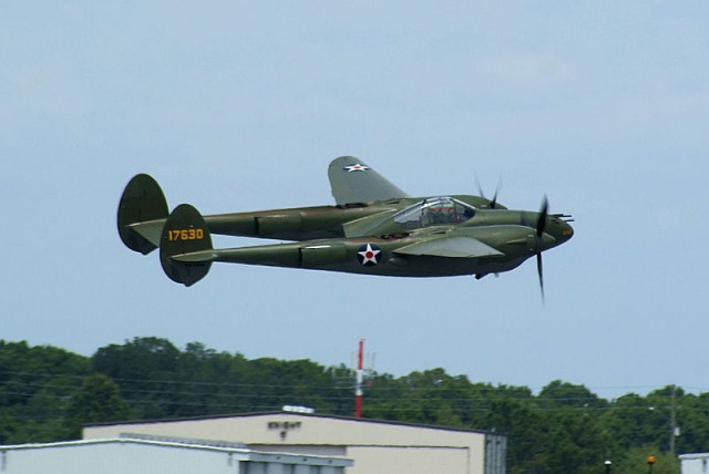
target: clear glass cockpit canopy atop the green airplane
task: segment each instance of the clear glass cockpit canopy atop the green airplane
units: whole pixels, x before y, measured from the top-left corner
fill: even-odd
[[[430,197],[394,214],[395,224],[404,228],[421,228],[460,224],[475,215],[476,209],[448,196]]]

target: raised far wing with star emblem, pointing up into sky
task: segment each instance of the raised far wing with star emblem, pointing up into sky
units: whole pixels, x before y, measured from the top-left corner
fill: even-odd
[[[352,156],[333,159],[328,168],[328,177],[338,205],[409,197],[367,163]]]

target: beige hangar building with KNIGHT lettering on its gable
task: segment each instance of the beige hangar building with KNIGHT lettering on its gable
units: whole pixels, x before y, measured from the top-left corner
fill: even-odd
[[[122,433],[227,440],[258,452],[351,458],[347,474],[505,474],[506,437],[494,433],[307,413],[255,413],[84,427],[84,439]]]

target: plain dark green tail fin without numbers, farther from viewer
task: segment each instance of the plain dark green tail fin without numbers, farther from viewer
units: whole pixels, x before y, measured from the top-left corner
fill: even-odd
[[[125,186],[119,204],[119,234],[127,248],[147,255],[157,248],[162,225],[141,226],[136,224],[160,220],[167,217],[167,200],[155,179],[146,174],[133,177]],[[152,231],[151,231],[152,230]]]

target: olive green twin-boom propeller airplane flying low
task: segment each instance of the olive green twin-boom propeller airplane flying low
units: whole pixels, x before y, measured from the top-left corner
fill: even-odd
[[[187,287],[213,262],[265,265],[391,277],[476,279],[517,268],[536,256],[542,297],[542,253],[574,235],[572,216],[511,210],[470,195],[410,197],[352,156],[333,159],[328,177],[335,206],[203,216],[188,204],[172,213],[157,182],[134,176],[117,210],[121,239],[147,255],[160,248],[169,279]],[[215,249],[212,235],[288,243]]]

